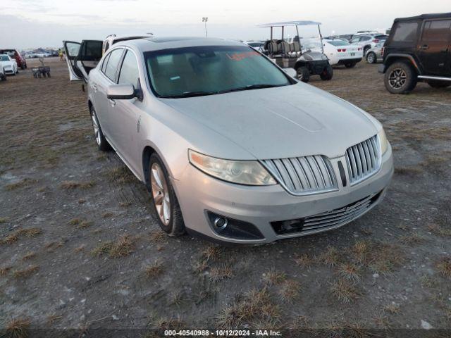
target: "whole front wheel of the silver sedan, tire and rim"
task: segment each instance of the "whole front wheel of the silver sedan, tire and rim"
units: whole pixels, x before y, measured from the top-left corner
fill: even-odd
[[[164,232],[171,236],[185,233],[182,211],[178,205],[177,196],[169,180],[168,171],[160,156],[154,153],[150,156],[148,182],[152,196],[152,206],[158,223]]]

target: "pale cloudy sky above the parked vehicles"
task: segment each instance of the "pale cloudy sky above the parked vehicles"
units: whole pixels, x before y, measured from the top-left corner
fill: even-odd
[[[266,39],[255,25],[322,23],[323,35],[386,30],[394,18],[450,11],[450,0],[0,0],[0,48],[59,47],[62,40],[152,32],[156,36]],[[278,32],[277,34],[280,34]],[[311,36],[311,30],[299,32]],[[295,35],[295,32],[286,32]]]

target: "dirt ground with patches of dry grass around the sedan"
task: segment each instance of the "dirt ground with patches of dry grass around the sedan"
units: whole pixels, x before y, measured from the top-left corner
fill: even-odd
[[[451,88],[392,95],[365,62],[312,77],[383,123],[388,194],[339,230],[230,249],[159,230],[80,82],[46,63],[0,82],[0,327],[451,330]]]

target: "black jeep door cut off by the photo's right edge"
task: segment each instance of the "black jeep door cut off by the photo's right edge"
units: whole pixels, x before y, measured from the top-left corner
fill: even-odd
[[[426,20],[417,46],[424,75],[451,76],[451,19]]]

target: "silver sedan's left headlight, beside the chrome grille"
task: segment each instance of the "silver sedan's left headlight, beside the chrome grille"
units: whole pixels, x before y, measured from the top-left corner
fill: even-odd
[[[189,150],[190,163],[220,180],[247,185],[277,184],[258,161],[230,161]]]

